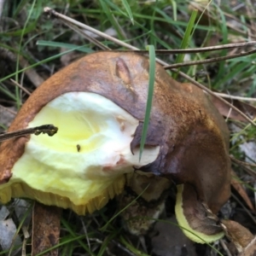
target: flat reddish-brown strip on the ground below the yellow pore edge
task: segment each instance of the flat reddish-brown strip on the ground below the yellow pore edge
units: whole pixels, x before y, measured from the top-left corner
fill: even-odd
[[[35,202],[32,212],[32,256],[58,244],[60,237],[61,208],[44,206]],[[44,253],[56,256],[58,249]]]

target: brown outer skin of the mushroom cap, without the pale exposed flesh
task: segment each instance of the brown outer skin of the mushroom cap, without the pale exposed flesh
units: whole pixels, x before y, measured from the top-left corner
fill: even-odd
[[[25,129],[38,112],[68,92],[96,93],[143,120],[148,95],[148,58],[132,53],[99,52],[55,73],[26,101],[9,131]],[[55,125],[55,124],[54,124]],[[131,151],[139,148],[139,122]],[[0,183],[12,177],[15,162],[30,137],[0,147]],[[160,147],[154,162],[140,170],[189,183],[197,199],[218,212],[230,196],[229,131],[207,94],[193,84],[180,84],[156,65],[154,101],[145,148]],[[44,202],[44,201],[43,201]]]

